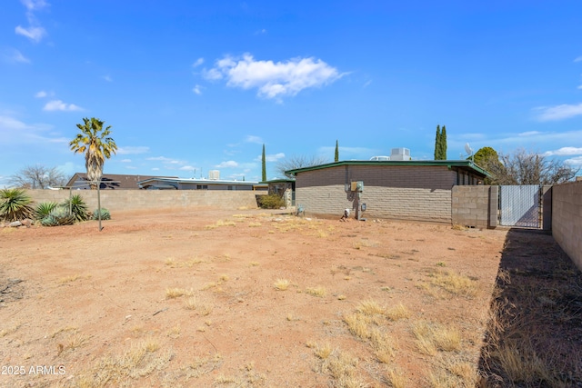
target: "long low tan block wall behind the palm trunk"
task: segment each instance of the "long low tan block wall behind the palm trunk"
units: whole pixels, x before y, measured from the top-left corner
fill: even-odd
[[[28,194],[36,203],[60,203],[69,197],[68,190],[28,190]],[[73,194],[81,194],[90,210],[97,208],[96,190],[73,190]],[[256,195],[263,194],[266,193],[222,190],[101,190],[101,206],[112,212],[200,206],[222,209],[247,206],[252,209],[256,208]]]

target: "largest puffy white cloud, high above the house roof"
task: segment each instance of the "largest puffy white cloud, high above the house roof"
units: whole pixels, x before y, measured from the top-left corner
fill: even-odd
[[[286,62],[256,61],[250,54],[242,59],[226,56],[205,72],[209,80],[226,78],[226,85],[242,89],[258,89],[264,98],[294,96],[309,87],[328,85],[341,78],[335,67],[320,59],[293,58]]]

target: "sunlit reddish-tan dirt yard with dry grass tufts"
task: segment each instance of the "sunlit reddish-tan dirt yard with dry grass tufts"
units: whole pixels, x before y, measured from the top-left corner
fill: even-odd
[[[112,216],[0,229],[0,386],[478,381],[507,231]]]

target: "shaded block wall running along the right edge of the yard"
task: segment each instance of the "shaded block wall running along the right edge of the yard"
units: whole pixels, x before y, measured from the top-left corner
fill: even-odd
[[[552,187],[552,234],[582,271],[582,182]]]

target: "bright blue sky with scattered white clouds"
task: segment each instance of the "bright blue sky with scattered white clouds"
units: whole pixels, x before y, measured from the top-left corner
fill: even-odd
[[[85,171],[260,180],[293,155],[432,159],[518,147],[582,166],[582,2],[3,0],[0,186]]]

